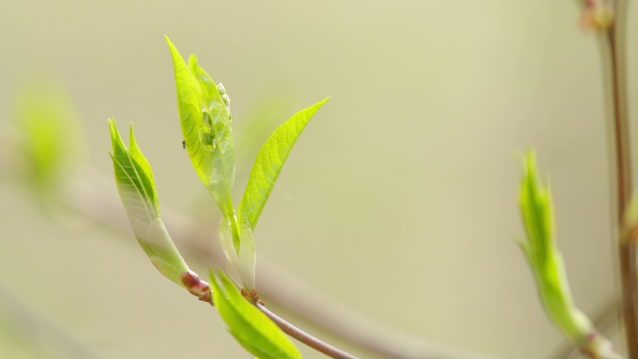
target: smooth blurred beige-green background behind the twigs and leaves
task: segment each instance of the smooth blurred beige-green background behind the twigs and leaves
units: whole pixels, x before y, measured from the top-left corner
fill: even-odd
[[[603,59],[579,13],[568,0],[3,1],[0,357],[251,358],[216,310],[152,267],[118,204],[112,116],[122,132],[135,123],[191,267],[212,265],[219,216],[181,146],[167,34],[232,99],[236,202],[270,132],[332,96],[256,229],[258,289],[313,293],[292,276],[436,345],[554,358],[563,340],[516,246],[518,149],[537,148],[551,173],[577,305],[595,315],[618,296]],[[627,34],[635,125],[636,6]],[[56,133],[66,160],[33,172],[28,145],[44,140],[24,121],[49,114],[68,130],[29,126]],[[623,346],[616,325],[606,333]]]

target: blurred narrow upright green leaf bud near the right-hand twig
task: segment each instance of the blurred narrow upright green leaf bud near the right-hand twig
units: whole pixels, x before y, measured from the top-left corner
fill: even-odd
[[[532,151],[526,154],[524,166],[519,199],[528,241],[519,245],[530,263],[547,314],[568,338],[580,342],[593,325],[572,299],[563,256],[555,240],[552,195],[537,179]]]

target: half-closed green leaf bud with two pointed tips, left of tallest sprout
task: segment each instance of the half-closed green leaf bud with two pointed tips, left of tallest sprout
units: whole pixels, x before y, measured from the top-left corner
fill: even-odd
[[[137,146],[133,136],[133,125],[126,149],[115,121],[108,121],[110,128],[117,192],[126,210],[126,217],[138,242],[153,265],[165,277],[182,287],[181,273],[188,266],[179,254],[164,224],[159,218],[159,202],[151,165]]]

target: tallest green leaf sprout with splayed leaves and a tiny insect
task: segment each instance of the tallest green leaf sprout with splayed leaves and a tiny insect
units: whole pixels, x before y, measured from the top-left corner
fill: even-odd
[[[198,178],[216,202],[223,218],[219,240],[226,271],[246,290],[255,289],[253,231],[290,150],[308,121],[328,99],[302,110],[279,126],[260,149],[237,215],[230,195],[235,177],[235,145],[230,126],[230,98],[221,84],[191,55],[188,65],[166,39],[173,59],[177,107],[188,156]]]

